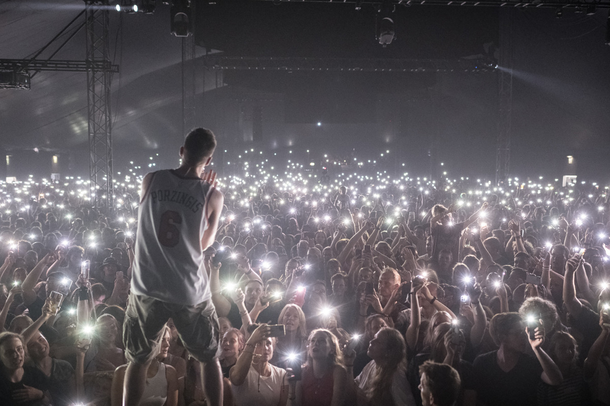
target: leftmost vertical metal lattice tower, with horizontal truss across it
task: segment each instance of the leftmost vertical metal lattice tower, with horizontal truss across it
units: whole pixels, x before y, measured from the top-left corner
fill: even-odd
[[[101,7],[100,7],[101,6]],[[110,71],[108,0],[85,2],[87,57],[87,113],[89,121],[89,179],[91,205],[112,211],[112,122],[110,120]]]

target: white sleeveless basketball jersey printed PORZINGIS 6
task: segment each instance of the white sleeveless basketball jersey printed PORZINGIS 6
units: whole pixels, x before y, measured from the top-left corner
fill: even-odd
[[[210,191],[173,170],[153,173],[138,210],[131,292],[185,305],[212,297],[201,249]]]

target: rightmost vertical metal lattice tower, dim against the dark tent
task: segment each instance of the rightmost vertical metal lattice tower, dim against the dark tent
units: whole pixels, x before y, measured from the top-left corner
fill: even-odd
[[[500,58],[498,60],[498,138],[496,140],[496,184],[506,181],[511,161],[512,113],[512,13],[500,9]]]

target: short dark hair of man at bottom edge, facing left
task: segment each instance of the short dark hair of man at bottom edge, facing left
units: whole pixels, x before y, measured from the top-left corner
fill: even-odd
[[[435,405],[451,406],[458,400],[461,380],[451,365],[426,361],[420,366],[422,374],[426,374],[426,385]]]

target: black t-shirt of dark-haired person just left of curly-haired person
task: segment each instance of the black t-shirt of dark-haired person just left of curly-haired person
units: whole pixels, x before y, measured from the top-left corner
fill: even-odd
[[[521,354],[517,365],[504,372],[497,362],[498,351],[475,359],[477,398],[489,406],[536,405],[536,390],[542,365],[537,359]]]

